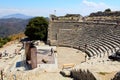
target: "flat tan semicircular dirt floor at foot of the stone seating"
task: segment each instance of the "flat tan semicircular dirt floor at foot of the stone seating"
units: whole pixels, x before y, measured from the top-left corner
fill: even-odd
[[[57,47],[58,68],[62,68],[64,64],[80,64],[85,61],[84,54],[73,48]]]

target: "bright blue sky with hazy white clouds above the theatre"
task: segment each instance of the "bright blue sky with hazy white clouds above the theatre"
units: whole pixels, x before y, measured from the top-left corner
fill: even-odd
[[[0,0],[0,17],[14,13],[45,17],[67,13],[85,16],[107,8],[120,10],[120,0]]]

